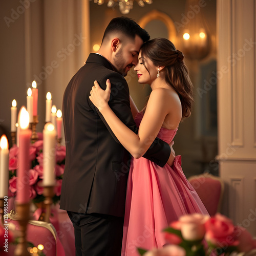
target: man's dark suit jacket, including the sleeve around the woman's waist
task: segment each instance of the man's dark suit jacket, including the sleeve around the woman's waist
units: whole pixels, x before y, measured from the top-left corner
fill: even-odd
[[[109,105],[137,133],[126,80],[113,71],[103,56],[91,53],[63,96],[66,164],[60,208],[123,217],[130,154],[89,99],[94,81],[105,89],[108,78],[111,81]],[[169,155],[169,145],[156,139],[144,157],[163,166]]]

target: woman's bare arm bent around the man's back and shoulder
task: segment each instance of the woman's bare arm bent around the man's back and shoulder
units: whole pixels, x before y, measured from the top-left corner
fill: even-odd
[[[155,89],[148,99],[147,108],[141,121],[138,135],[131,131],[111,110],[108,101],[110,98],[111,83],[106,82],[106,90],[102,90],[97,81],[92,88],[90,100],[98,108],[111,130],[120,141],[120,143],[135,158],[140,158],[151,146],[157,137],[163,121],[166,117],[168,100],[165,100],[166,89]]]

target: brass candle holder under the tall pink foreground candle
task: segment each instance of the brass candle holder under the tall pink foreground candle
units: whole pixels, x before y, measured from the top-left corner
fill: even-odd
[[[29,210],[30,204],[19,204],[16,203],[17,220],[19,223],[20,237],[19,242],[14,251],[15,256],[29,256],[28,243],[27,243],[27,225],[29,222]]]

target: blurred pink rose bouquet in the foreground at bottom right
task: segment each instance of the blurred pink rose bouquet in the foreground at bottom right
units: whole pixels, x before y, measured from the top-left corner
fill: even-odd
[[[166,245],[146,251],[143,256],[250,256],[256,255],[256,241],[243,227],[234,226],[227,217],[201,214],[184,215],[163,230]]]

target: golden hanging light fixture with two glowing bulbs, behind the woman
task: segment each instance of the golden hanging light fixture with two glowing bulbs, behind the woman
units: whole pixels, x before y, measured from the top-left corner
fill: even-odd
[[[210,32],[203,16],[204,6],[198,0],[187,0],[185,15],[179,24],[181,47],[190,59],[203,59],[210,51]]]

